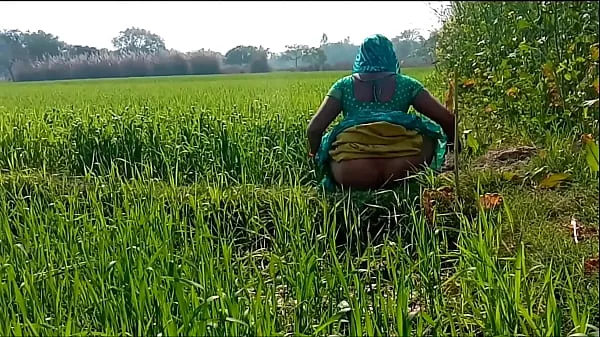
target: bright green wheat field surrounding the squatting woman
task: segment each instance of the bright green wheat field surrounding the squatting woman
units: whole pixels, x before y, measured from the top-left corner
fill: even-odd
[[[451,172],[323,194],[305,130],[342,75],[0,84],[0,335],[597,336],[597,237],[562,226],[598,226],[577,135],[523,168],[574,163],[561,189],[466,151],[433,215]]]

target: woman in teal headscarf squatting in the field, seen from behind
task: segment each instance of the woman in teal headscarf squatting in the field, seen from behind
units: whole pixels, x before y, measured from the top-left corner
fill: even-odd
[[[447,139],[454,139],[454,115],[399,68],[389,39],[366,38],[352,75],[333,84],[313,116],[310,155],[325,173],[326,189],[381,188],[426,166],[442,166]],[[425,117],[409,114],[411,105]],[[323,136],[340,112],[343,120]]]

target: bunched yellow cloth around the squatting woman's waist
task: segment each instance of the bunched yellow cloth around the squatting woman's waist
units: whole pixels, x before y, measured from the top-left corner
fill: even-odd
[[[357,125],[340,133],[329,155],[340,162],[364,158],[398,158],[421,154],[423,136],[388,122]]]

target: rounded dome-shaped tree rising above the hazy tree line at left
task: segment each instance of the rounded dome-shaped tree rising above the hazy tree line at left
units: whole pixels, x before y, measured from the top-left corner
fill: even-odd
[[[112,44],[121,53],[156,54],[166,50],[162,37],[136,27],[119,32],[119,36],[112,39]]]

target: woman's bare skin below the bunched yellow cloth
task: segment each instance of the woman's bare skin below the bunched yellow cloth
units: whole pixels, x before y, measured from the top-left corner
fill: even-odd
[[[355,189],[376,189],[421,170],[431,163],[434,143],[423,137],[421,154],[399,158],[353,159],[331,161],[331,171],[338,184]]]

